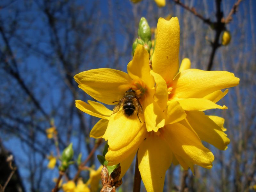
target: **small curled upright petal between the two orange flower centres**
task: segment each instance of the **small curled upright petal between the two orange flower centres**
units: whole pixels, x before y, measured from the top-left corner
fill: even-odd
[[[154,77],[156,82],[156,92],[154,94],[154,100],[159,105],[161,109],[165,109],[168,101],[168,92],[167,85],[163,77],[155,73],[153,70],[150,71],[150,74]]]

